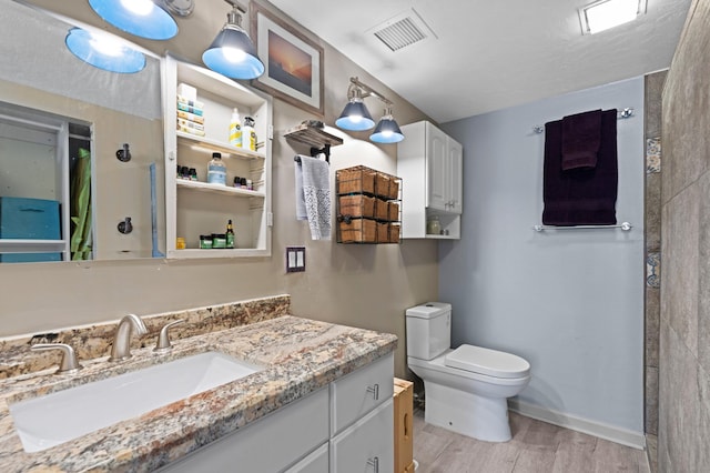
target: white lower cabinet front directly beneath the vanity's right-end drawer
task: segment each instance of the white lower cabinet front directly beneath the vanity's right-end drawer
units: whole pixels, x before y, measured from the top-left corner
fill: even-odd
[[[392,397],[331,441],[333,473],[394,471]]]

